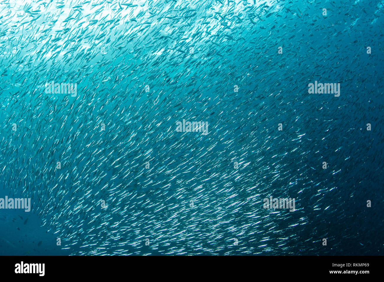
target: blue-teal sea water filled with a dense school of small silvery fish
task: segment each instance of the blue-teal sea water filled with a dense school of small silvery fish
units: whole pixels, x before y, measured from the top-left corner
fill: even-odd
[[[384,1],[109,2],[0,3],[1,255],[382,254]]]

